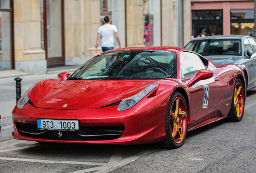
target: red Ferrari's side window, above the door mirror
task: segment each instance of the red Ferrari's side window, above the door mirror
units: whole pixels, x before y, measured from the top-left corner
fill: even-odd
[[[181,52],[180,66],[182,79],[194,77],[199,70],[204,70],[205,66],[197,54],[191,52]]]

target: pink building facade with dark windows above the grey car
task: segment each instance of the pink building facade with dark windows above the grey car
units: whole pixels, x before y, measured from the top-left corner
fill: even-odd
[[[254,0],[191,0],[192,34],[252,35]]]

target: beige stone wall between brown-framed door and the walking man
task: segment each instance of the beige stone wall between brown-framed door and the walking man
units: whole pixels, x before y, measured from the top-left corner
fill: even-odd
[[[66,57],[95,56],[100,26],[100,0],[65,0]]]

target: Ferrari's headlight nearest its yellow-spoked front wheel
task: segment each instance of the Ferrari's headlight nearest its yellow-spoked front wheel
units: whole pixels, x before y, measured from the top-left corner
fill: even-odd
[[[141,99],[143,99],[146,95],[148,95],[153,89],[155,89],[159,84],[151,84],[149,87],[145,88],[144,90],[140,91],[140,93],[128,97],[121,101],[118,106],[118,111],[124,111],[130,109],[134,105],[136,105]]]

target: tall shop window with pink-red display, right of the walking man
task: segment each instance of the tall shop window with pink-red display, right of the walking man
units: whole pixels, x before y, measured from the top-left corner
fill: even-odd
[[[160,0],[143,1],[144,44],[161,46]]]

